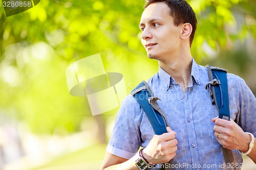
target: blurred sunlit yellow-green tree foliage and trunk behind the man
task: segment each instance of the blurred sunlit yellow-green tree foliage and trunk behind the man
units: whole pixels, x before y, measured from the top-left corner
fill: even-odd
[[[218,54],[230,51],[238,42],[245,44],[249,36],[255,42],[255,1],[188,2],[198,17],[191,48],[198,63],[205,62],[205,58],[220,61]],[[104,142],[105,129],[100,125],[107,115],[116,112],[91,116],[87,99],[69,95],[65,70],[74,61],[100,53],[107,72],[124,75],[127,92],[155,74],[157,61],[148,60],[140,45],[138,24],[143,4],[124,0],[45,0],[10,17],[6,17],[1,4],[0,108],[24,120],[35,133],[76,132],[84,117],[95,119],[98,136]],[[250,53],[244,54],[223,57],[223,67],[227,68],[232,60],[239,71],[247,72],[255,60]],[[256,82],[252,84],[255,87]]]

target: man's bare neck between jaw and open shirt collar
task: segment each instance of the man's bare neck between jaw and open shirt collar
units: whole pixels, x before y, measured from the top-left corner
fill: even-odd
[[[166,61],[159,61],[160,67],[172,76],[184,92],[191,83],[192,57],[188,55],[170,56]]]

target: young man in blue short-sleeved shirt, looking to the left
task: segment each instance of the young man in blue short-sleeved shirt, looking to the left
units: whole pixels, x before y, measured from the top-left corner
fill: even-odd
[[[135,162],[140,147],[145,162],[155,165],[152,169],[169,160],[173,169],[232,169],[236,165],[224,167],[222,146],[233,150],[238,169],[242,163],[238,150],[251,150],[248,156],[256,162],[256,147],[249,149],[256,136],[256,99],[241,78],[227,74],[231,120],[217,117],[217,107],[205,90],[207,69],[190,54],[196,25],[193,9],[183,0],[147,1],[140,21],[141,41],[148,58],[159,61],[159,71],[147,83],[161,99],[158,104],[170,127],[168,133],[154,135],[140,105],[128,95],[101,169],[139,169]]]

